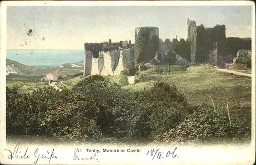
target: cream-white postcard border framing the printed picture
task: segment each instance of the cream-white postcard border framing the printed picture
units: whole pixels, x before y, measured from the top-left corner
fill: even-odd
[[[181,147],[180,153],[183,154],[183,159],[179,162],[172,161],[172,163],[177,164],[190,164],[193,162],[197,162],[197,164],[205,164],[205,163],[216,163],[216,164],[226,164],[226,163],[243,163],[243,164],[251,164],[255,161],[255,5],[252,1],[7,1],[7,2],[1,2],[1,43],[0,43],[0,74],[1,74],[1,81],[0,81],[0,99],[1,99],[1,136],[0,136],[0,160],[1,163],[7,162],[5,158],[3,158],[3,148],[6,147],[6,129],[5,129],[5,102],[6,102],[6,40],[7,40],[7,33],[6,33],[6,16],[7,16],[7,6],[245,6],[245,5],[251,5],[252,6],[252,138],[251,138],[251,146],[249,148],[246,147],[218,147],[218,150],[216,147],[214,148],[204,148],[200,147],[201,149],[198,150],[196,148],[187,148],[187,147]],[[35,150],[35,147],[38,145],[30,146],[31,150]],[[24,147],[24,146],[23,146]],[[27,146],[25,146],[27,147]],[[50,146],[44,146],[44,149],[46,150],[46,147]],[[88,146],[87,146],[88,147]],[[98,146],[100,147],[100,146]],[[114,147],[114,146],[112,146]],[[72,146],[55,146],[56,150],[58,149],[58,153],[64,152],[67,154],[71,150],[74,150],[74,147]],[[97,146],[94,148],[97,148]],[[110,147],[109,147],[110,148]],[[127,148],[127,147],[126,147]],[[171,147],[172,148],[172,147]],[[168,148],[169,149],[169,148]],[[143,152],[146,152],[146,148],[144,148]],[[208,153],[208,154],[207,154]],[[64,154],[64,155],[65,155]],[[211,155],[209,155],[211,154]],[[198,156],[201,155],[201,156]],[[121,158],[117,160],[117,157],[120,156]],[[184,157],[185,156],[185,157]],[[68,157],[65,156],[65,157]],[[127,158],[125,158],[127,157]],[[122,163],[122,164],[148,164],[148,163],[160,163],[161,164],[169,164],[171,160],[167,161],[159,161],[159,162],[153,162],[149,161],[148,158],[145,156],[138,156],[136,155],[119,155],[117,154],[115,158],[112,154],[106,154],[103,155],[102,158],[105,160],[103,162],[99,163],[111,163],[114,160],[116,163]],[[143,158],[143,159],[142,159]],[[241,158],[241,159],[240,159]],[[244,158],[244,159],[243,159]],[[147,160],[146,160],[147,159]],[[234,159],[234,161],[232,161]],[[243,161],[242,161],[243,160]],[[232,162],[231,162],[232,161]],[[17,163],[15,161],[8,162],[8,163]],[[19,163],[24,164],[30,164],[33,162],[29,161],[19,161]],[[42,164],[47,162],[41,162]],[[95,163],[97,162],[74,162],[71,160],[64,160],[63,161],[52,161],[52,163],[71,163],[71,164],[80,164],[80,163]],[[37,163],[39,164],[39,163]]]

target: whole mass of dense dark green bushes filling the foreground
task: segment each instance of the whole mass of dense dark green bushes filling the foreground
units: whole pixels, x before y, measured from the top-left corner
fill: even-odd
[[[226,108],[191,105],[175,85],[161,81],[141,91],[125,90],[101,76],[89,76],[61,92],[44,87],[28,93],[19,88],[13,86],[6,90],[9,135],[97,142],[250,139],[250,109],[228,116]]]

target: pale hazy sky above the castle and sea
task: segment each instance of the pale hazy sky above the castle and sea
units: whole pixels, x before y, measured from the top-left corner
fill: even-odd
[[[251,6],[8,6],[7,49],[82,50],[84,42],[131,40],[135,28],[159,38],[187,38],[187,19],[226,26],[226,37],[251,37]],[[29,29],[33,36],[27,35]]]

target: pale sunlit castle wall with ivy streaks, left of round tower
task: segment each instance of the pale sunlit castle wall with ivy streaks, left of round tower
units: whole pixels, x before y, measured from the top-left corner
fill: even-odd
[[[87,49],[84,51],[84,76],[118,75],[124,68],[135,65],[131,41],[85,43],[84,48]]]

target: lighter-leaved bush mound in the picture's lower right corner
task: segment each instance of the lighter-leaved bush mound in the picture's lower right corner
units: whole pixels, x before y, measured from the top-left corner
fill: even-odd
[[[233,124],[231,123],[230,125],[226,112],[214,110],[214,107],[203,106],[195,109],[193,114],[186,116],[177,127],[162,133],[157,139],[161,142],[204,142],[214,144],[242,142],[242,135],[243,140],[249,140],[250,122],[246,122],[244,119],[232,121]]]

